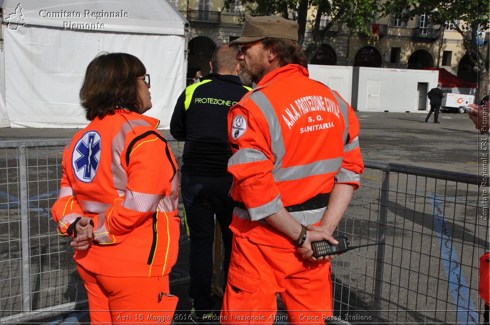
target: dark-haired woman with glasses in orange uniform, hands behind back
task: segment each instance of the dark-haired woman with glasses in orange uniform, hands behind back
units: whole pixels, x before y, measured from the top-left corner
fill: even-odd
[[[91,123],[65,147],[52,208],[57,232],[73,236],[92,324],[170,323],[177,258],[177,163],[142,115],[150,78],[126,53],[101,53],[87,67],[81,105]]]

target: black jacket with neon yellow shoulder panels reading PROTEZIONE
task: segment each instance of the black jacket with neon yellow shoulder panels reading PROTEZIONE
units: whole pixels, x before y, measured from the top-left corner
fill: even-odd
[[[250,88],[230,74],[210,73],[187,87],[177,99],[170,133],[185,141],[182,174],[227,176],[231,148],[227,115]]]

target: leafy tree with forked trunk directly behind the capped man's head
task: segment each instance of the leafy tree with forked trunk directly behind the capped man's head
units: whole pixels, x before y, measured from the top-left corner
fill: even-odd
[[[230,2],[225,0],[225,8],[230,8]],[[350,30],[359,28],[369,33],[368,25],[378,15],[376,0],[242,0],[242,5],[252,16],[267,16],[280,14],[283,18],[293,19],[299,25],[298,42],[305,41],[308,12],[312,12],[315,20],[312,30],[312,42],[305,44],[308,62],[315,56],[327,32],[338,23],[345,23]],[[324,29],[320,28],[321,17],[331,17]]]

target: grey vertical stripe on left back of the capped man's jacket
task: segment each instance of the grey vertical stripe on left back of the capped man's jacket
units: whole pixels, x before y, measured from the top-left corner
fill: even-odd
[[[277,119],[272,104],[264,93],[254,91],[250,95],[250,99],[260,108],[269,123],[270,149],[274,156],[274,161],[272,162],[274,163],[274,169],[272,169],[272,173],[274,173],[281,168],[282,160],[286,155],[286,148],[284,147],[284,140],[282,139],[281,124]]]

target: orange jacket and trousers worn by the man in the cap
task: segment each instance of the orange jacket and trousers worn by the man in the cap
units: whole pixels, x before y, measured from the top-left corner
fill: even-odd
[[[221,322],[272,324],[279,294],[289,323],[323,323],[332,316],[329,260],[303,259],[291,238],[264,218],[335,184],[359,187],[364,164],[357,117],[307,70],[286,65],[230,109],[228,131],[230,193],[242,206],[230,226],[235,236]],[[290,213],[305,226],[318,225],[324,207]]]

